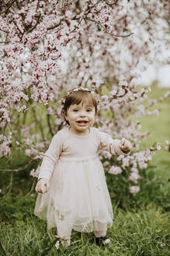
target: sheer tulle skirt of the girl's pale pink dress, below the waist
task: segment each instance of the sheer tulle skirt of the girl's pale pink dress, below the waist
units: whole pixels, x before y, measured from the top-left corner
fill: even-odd
[[[100,223],[111,227],[113,208],[99,158],[59,158],[50,177],[50,189],[38,194],[34,213],[47,220],[48,229],[61,221],[79,232],[100,231]]]

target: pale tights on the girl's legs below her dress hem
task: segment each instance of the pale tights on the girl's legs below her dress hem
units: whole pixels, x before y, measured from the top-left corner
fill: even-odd
[[[106,236],[107,226],[105,223],[93,222],[93,226],[95,228],[95,237]],[[64,241],[64,246],[69,246],[71,243],[71,230],[72,227],[66,220],[59,220],[57,222],[57,235]]]

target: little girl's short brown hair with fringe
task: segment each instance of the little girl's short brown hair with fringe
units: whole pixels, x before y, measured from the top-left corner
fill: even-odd
[[[70,108],[71,105],[79,105],[80,103],[92,105],[95,108],[95,113],[97,112],[98,101],[95,98],[95,94],[92,94],[91,91],[78,90],[71,91],[71,93],[64,98],[62,115],[64,116],[64,114],[67,113],[68,108]],[[65,121],[69,124],[68,120],[65,119]]]

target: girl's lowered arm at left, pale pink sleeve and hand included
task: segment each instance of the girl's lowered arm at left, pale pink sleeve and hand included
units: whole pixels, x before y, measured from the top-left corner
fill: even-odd
[[[46,193],[49,189],[50,176],[54,170],[54,165],[61,155],[62,139],[60,132],[54,135],[48,150],[45,152],[43,162],[40,166],[40,174],[36,184],[36,192]]]

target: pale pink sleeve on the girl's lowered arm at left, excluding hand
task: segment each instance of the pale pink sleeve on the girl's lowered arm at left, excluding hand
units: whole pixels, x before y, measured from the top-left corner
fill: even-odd
[[[50,146],[44,154],[43,162],[40,166],[40,174],[38,176],[38,180],[41,178],[46,178],[50,180],[50,176],[54,170],[54,165],[61,155],[62,151],[62,137],[61,133],[58,132],[54,135],[53,139],[51,140]]]

